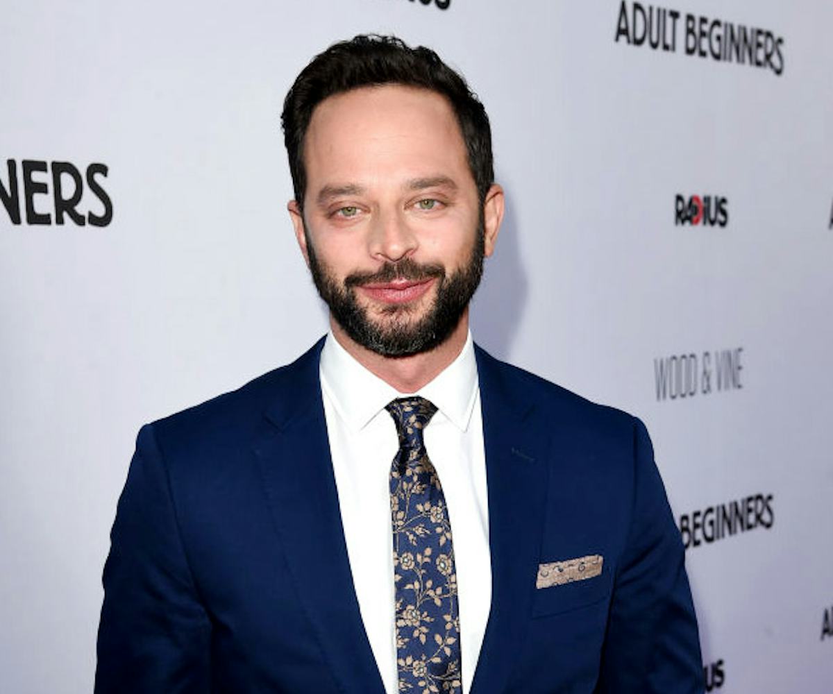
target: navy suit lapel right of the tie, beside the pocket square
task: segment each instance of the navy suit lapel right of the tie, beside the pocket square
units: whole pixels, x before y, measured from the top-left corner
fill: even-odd
[[[476,348],[486,448],[491,612],[471,694],[504,692],[531,612],[547,488],[546,422]],[[513,387],[514,386],[514,387]],[[537,425],[536,426],[536,422]]]

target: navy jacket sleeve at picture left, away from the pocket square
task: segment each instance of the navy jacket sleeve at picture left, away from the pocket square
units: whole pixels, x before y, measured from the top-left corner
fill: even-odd
[[[152,425],[137,438],[103,584],[96,694],[210,691],[211,622],[188,567]]]

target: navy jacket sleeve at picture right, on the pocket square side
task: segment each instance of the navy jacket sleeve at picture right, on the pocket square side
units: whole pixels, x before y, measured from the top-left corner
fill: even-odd
[[[631,521],[613,590],[596,692],[701,694],[705,683],[685,550],[639,420]]]

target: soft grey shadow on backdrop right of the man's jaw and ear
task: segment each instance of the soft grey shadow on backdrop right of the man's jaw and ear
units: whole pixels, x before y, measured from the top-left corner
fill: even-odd
[[[506,191],[506,213],[495,252],[486,258],[483,281],[471,301],[471,334],[492,356],[504,360],[521,325],[528,289],[512,200]]]

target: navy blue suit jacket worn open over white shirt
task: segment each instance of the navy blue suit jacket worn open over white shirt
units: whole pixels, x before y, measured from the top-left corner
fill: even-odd
[[[112,528],[98,694],[383,694],[318,377],[297,362],[142,427]],[[472,694],[695,694],[679,532],[641,422],[476,349],[491,613]],[[536,588],[538,564],[601,576]]]

